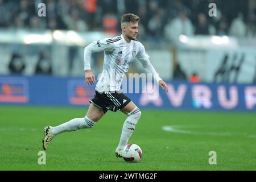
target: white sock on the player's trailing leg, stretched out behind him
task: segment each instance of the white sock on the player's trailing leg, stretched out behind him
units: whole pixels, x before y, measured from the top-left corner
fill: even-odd
[[[75,118],[59,126],[52,127],[52,133],[53,135],[57,135],[64,131],[76,131],[79,129],[90,128],[93,127],[95,123],[96,122],[86,116],[84,118]]]

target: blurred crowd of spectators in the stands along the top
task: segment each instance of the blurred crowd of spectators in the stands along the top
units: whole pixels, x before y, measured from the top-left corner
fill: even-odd
[[[39,3],[46,17],[39,17]],[[217,16],[210,17],[209,3]],[[125,13],[140,16],[141,38],[177,35],[256,35],[256,0],[0,0],[0,28],[120,32]]]

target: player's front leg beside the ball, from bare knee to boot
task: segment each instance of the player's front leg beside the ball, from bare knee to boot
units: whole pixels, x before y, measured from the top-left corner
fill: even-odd
[[[139,110],[139,108],[133,103],[133,101],[130,101],[129,104],[121,109],[121,111],[127,114],[127,118],[123,123],[121,138],[115,150],[115,155],[117,157],[122,156],[122,150],[127,145],[128,140],[133,134],[135,126],[137,125],[137,122],[141,117],[141,110]]]

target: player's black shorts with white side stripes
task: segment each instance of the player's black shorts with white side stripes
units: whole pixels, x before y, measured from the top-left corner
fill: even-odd
[[[93,104],[96,107],[102,108],[104,113],[108,110],[118,111],[123,109],[130,102],[130,98],[125,96],[123,93],[118,92],[97,92],[92,100],[90,100],[90,104]]]

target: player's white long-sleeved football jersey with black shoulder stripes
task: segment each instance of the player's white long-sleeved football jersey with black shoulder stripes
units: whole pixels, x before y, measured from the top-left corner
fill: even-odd
[[[152,67],[144,46],[138,41],[131,40],[130,43],[127,43],[122,35],[94,41],[84,49],[85,70],[90,70],[92,53],[101,51],[104,51],[104,63],[101,76],[96,85],[98,92],[119,91],[123,76],[125,76],[135,57],[141,61],[147,73],[151,73],[157,82],[162,80],[154,67]]]

